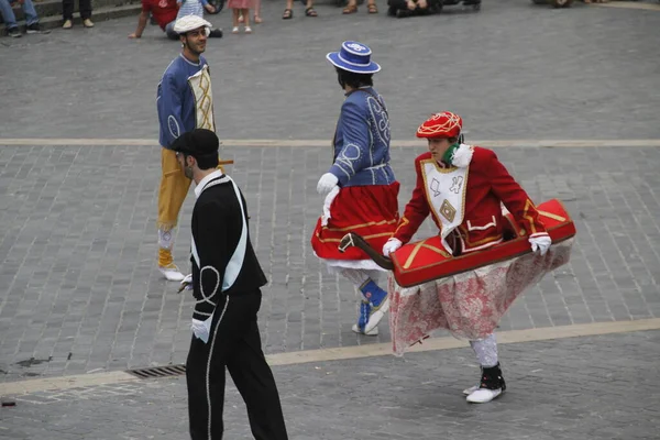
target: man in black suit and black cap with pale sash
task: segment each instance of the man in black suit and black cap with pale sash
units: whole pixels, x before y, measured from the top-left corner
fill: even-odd
[[[218,138],[195,129],[172,144],[197,184],[193,209],[193,273],[184,279],[197,300],[186,362],[193,440],[222,438],[224,367],[248,407],[255,439],[287,439],[277,386],[262,351],[256,314],[266,277],[248,227],[245,199],[218,166]]]

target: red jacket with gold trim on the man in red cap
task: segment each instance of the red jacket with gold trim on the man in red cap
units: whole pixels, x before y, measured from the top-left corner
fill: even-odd
[[[415,160],[417,184],[393,235],[403,243],[410,241],[430,212],[438,229],[442,229],[439,212],[431,209],[427,199],[421,164],[428,160],[432,160],[430,152]],[[517,226],[504,224],[501,201]],[[502,242],[505,230],[531,235],[546,232],[546,227],[539,221],[539,213],[527,193],[497,160],[495,152],[474,146],[468,170],[463,222],[448,240],[453,239],[454,254],[458,249],[466,253]],[[460,246],[455,245],[458,242]]]

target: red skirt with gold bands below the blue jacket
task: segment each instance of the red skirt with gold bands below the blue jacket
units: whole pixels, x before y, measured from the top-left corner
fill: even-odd
[[[356,246],[339,252],[339,242],[349,232],[362,235],[381,252],[399,220],[398,191],[398,182],[341,188],[330,205],[328,224],[322,226],[322,218],[319,218],[314,230],[311,248],[317,256],[328,260],[371,260]]]

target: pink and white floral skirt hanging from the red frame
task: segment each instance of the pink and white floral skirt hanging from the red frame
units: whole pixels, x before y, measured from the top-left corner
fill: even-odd
[[[491,334],[514,300],[548,272],[566,264],[573,239],[553,244],[543,256],[528,253],[505,262],[414,287],[399,286],[389,274],[389,329],[393,351],[410,345],[438,329],[459,339]]]

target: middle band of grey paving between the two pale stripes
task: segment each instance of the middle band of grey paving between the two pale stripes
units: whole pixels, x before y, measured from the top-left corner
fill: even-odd
[[[576,221],[569,265],[512,307],[502,330],[660,316],[660,148],[496,148],[535,200]],[[415,148],[394,148],[400,208]],[[158,147],[0,147],[0,381],[183,363],[191,298],[155,270]],[[389,341],[350,327],[356,294],[314,257],[326,148],[223,148],[268,277],[260,312],[267,353]],[[586,172],[588,170],[588,173]],[[185,267],[193,198],[175,256]],[[419,237],[433,233],[425,224]],[[442,334],[442,333],[440,333]]]

